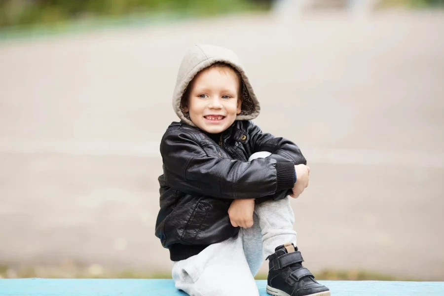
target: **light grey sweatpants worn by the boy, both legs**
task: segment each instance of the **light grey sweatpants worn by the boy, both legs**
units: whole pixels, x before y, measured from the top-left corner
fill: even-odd
[[[260,153],[249,160],[263,157]],[[277,246],[286,242],[296,246],[294,222],[289,197],[257,204],[252,227],[240,228],[238,235],[174,262],[176,288],[190,296],[259,296],[254,276]]]

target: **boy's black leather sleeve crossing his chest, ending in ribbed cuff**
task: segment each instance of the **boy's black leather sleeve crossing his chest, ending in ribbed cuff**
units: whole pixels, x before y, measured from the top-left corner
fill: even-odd
[[[260,158],[242,162],[208,156],[192,133],[169,129],[160,144],[166,182],[173,189],[215,198],[260,198],[295,184],[290,162]]]

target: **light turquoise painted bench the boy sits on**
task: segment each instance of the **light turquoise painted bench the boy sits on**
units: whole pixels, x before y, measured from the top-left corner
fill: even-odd
[[[332,296],[444,296],[444,282],[319,281]],[[266,281],[257,281],[266,296]],[[172,280],[2,279],[1,296],[160,296],[186,294]],[[211,295],[209,295],[211,296]],[[234,295],[235,296],[235,295]]]

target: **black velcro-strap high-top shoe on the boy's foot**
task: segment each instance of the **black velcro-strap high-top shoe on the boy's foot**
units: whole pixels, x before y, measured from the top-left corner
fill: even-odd
[[[330,296],[330,290],[315,281],[311,272],[302,266],[297,247],[287,243],[268,256],[267,293],[275,296]]]

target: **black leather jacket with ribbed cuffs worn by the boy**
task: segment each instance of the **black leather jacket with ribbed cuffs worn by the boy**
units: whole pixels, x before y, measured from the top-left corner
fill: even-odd
[[[212,138],[173,122],[160,144],[163,175],[155,234],[173,261],[236,235],[239,228],[228,217],[231,201],[283,198],[295,184],[294,165],[306,164],[294,143],[262,133],[251,121],[235,121],[219,139]],[[248,162],[258,151],[272,155]]]

